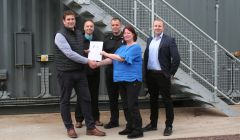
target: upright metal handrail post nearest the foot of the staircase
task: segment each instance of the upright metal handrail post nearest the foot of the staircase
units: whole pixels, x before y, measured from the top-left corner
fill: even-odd
[[[218,89],[218,45],[217,41],[214,42],[214,95],[213,102],[216,102],[217,89]]]

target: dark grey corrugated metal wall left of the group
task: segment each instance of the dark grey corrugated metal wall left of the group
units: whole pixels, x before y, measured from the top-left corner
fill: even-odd
[[[35,97],[40,94],[41,67],[49,67],[50,93],[57,94],[53,62],[38,62],[40,54],[53,53],[53,38],[58,30],[63,11],[59,0],[0,0],[0,69],[8,72],[7,91],[12,97]],[[32,65],[15,65],[17,34],[32,37]]]

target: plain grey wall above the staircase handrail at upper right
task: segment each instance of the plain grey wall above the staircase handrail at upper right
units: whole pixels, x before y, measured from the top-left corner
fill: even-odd
[[[215,39],[215,5],[219,1],[218,41],[230,52],[240,50],[239,0],[166,0]]]

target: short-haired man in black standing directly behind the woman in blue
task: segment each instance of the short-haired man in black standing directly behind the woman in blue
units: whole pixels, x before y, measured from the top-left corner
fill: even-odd
[[[107,53],[114,53],[122,44],[121,20],[113,18],[111,20],[112,32],[104,38],[103,50]],[[104,128],[110,129],[119,126],[119,108],[118,98],[119,90],[116,83],[113,82],[113,65],[107,65],[105,69],[106,86],[108,91],[111,118]]]

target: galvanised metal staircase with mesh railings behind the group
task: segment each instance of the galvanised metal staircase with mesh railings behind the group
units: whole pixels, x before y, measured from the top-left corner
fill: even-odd
[[[214,106],[228,116],[239,115],[222,100],[240,104],[239,59],[165,0],[155,0],[155,4],[150,0],[91,0],[89,4],[80,4],[77,0],[62,1],[79,15],[92,18],[103,32],[110,31],[112,16],[120,17],[123,24],[133,25],[143,40],[152,33],[152,20],[163,19],[165,32],[175,37],[181,55],[172,91]]]

